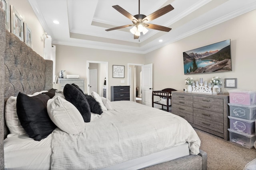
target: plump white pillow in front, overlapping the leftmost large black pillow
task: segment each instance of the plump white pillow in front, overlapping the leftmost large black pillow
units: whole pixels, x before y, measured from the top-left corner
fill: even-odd
[[[84,119],[76,107],[57,96],[47,102],[47,112],[53,123],[62,131],[78,134],[84,131]]]

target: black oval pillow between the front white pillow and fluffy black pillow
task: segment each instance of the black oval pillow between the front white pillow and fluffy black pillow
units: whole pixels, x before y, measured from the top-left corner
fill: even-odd
[[[63,94],[65,99],[78,109],[84,119],[84,122],[90,122],[91,110],[84,94],[71,84],[66,84],[64,86]]]

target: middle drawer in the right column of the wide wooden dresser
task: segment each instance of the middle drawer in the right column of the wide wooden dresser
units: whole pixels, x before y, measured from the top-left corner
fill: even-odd
[[[223,123],[223,113],[193,108],[193,115],[196,117]]]

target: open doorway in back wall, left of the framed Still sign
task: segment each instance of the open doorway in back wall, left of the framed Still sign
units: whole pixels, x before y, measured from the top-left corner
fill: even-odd
[[[100,96],[108,98],[108,62],[87,61],[86,66],[87,94],[91,95],[91,91],[97,91]]]

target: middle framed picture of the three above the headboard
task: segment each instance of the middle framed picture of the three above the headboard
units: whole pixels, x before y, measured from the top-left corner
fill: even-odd
[[[24,42],[24,28],[22,16],[11,5],[11,33]]]

